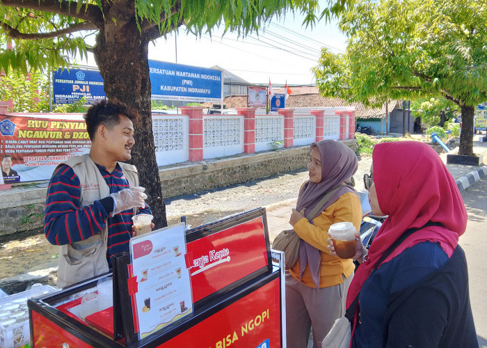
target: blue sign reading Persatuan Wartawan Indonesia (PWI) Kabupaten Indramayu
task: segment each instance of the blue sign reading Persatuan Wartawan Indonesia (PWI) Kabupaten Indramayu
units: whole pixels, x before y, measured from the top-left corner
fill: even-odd
[[[221,102],[221,70],[149,61],[152,99],[186,102]]]

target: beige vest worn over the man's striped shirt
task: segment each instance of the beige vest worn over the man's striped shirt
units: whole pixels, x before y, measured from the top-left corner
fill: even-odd
[[[81,205],[90,205],[110,195],[109,186],[88,155],[75,156],[64,162],[79,177]],[[130,164],[118,162],[129,181],[130,187],[138,186],[137,169]],[[134,209],[135,213],[135,209]],[[88,239],[59,246],[58,287],[65,287],[109,271],[106,261],[108,226]]]

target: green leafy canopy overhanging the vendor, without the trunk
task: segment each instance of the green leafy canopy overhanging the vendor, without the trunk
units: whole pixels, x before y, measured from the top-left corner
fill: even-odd
[[[262,28],[273,16],[286,11],[305,13],[313,24],[320,13],[317,0],[285,1],[180,1],[180,0],[1,0],[0,68],[24,70],[68,66],[72,57],[92,51],[86,38],[96,31],[117,40],[123,26],[134,25],[152,40],[182,24],[196,35],[215,26],[245,35]],[[340,2],[334,8],[339,8]],[[324,14],[329,13],[324,12]],[[1,42],[0,41],[0,42]]]

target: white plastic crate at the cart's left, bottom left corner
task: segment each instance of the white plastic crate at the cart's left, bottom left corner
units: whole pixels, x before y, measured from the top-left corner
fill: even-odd
[[[43,294],[56,290],[51,285],[42,285]],[[18,292],[10,296],[0,298],[0,348],[23,347],[30,340],[29,310],[27,300],[31,298],[31,290]],[[13,308],[16,306],[18,308]],[[8,309],[13,308],[13,309]],[[10,311],[10,315],[6,313]],[[21,315],[22,312],[25,312]],[[19,317],[13,317],[19,315]],[[8,320],[15,320],[15,323],[3,325]]]

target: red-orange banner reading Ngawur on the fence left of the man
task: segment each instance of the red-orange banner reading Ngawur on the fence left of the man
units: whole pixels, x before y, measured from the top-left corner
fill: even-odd
[[[15,173],[3,177],[6,183],[49,180],[58,164],[88,153],[91,146],[81,113],[0,115],[0,134],[0,157],[3,164],[11,157]]]

